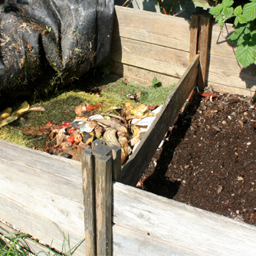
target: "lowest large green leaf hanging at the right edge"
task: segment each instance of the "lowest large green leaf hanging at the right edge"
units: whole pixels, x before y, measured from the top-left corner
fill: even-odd
[[[248,44],[246,44],[245,46],[241,44],[235,51],[235,57],[242,64],[243,67],[248,67],[249,65],[254,63],[256,58],[256,52],[254,50],[254,47],[251,47]]]

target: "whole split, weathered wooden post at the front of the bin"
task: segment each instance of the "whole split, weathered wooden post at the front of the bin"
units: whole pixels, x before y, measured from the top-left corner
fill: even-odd
[[[121,149],[97,140],[82,153],[86,255],[112,254],[112,177],[120,179]]]

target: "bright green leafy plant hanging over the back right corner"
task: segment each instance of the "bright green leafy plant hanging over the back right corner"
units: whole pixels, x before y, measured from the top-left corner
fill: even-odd
[[[209,12],[221,27],[228,19],[235,18],[235,32],[228,37],[228,41],[238,46],[235,57],[243,67],[253,64],[256,58],[256,0],[235,8],[233,0],[223,0]]]

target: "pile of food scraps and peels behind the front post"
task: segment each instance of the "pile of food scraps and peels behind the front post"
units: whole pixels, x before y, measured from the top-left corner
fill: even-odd
[[[85,102],[75,108],[77,116],[72,123],[57,125],[51,120],[41,127],[40,133],[48,134],[46,152],[78,161],[82,150],[91,147],[94,139],[104,139],[107,146],[121,148],[123,164],[160,109],[161,106],[143,103],[133,108],[130,102],[126,102],[125,107],[110,107],[103,112],[100,104]]]

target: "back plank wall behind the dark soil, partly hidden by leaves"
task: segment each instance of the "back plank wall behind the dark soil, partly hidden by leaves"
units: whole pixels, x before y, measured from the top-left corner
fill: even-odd
[[[242,68],[235,58],[236,47],[227,41],[235,31],[231,24],[223,27],[212,26],[212,44],[208,67],[208,85],[221,93],[255,96],[256,65]]]

